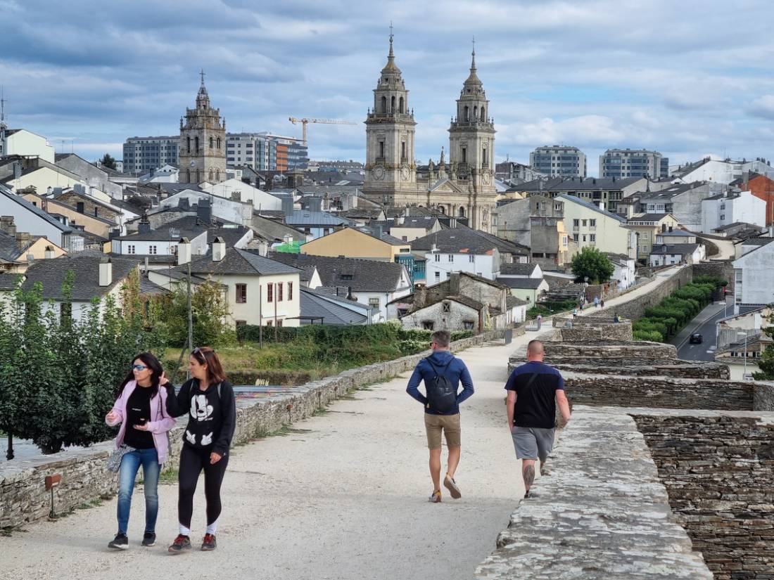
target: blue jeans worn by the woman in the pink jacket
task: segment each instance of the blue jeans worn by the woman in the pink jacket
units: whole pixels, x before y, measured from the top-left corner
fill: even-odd
[[[156,532],[156,516],[159,515],[159,454],[156,448],[135,449],[121,459],[118,472],[118,532],[126,534],[129,510],[132,508],[132,492],[135,478],[142,465],[142,479],[146,495],[146,533]]]

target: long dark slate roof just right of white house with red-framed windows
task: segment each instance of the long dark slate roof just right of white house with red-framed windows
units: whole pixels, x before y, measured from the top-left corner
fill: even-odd
[[[360,258],[329,258],[283,252],[271,252],[269,257],[298,268],[316,266],[324,286],[351,287],[353,292],[393,292],[399,288],[405,269],[402,264]]]

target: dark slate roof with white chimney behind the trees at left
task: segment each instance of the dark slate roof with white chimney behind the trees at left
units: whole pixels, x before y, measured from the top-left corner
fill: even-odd
[[[113,264],[112,282],[108,286],[100,286],[99,264],[105,258],[108,258],[107,254],[79,252],[53,260],[36,261],[27,268],[22,287],[29,290],[33,284],[40,282],[43,285],[43,299],[62,300],[62,282],[67,272],[72,270],[75,273],[73,302],[89,302],[94,297],[101,297],[115,288],[138,264],[135,260],[110,258]]]

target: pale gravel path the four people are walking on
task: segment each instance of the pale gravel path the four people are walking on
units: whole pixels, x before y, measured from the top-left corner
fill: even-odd
[[[177,486],[163,485],[156,547],[139,546],[144,506],[135,490],[128,551],[106,547],[116,529],[113,499],[0,539],[0,578],[467,580],[523,494],[502,388],[509,355],[534,337],[461,353],[476,388],[462,410],[461,500],[444,493],[444,503],[426,501],[422,409],[406,395],[405,375],[335,402],[287,435],[234,449],[217,551],[166,554]],[[200,482],[194,541],[203,533]]]

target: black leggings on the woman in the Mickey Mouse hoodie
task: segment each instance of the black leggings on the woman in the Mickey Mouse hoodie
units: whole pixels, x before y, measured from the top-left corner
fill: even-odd
[[[213,524],[221,515],[221,483],[228,466],[228,455],[214,465],[210,463],[211,451],[194,449],[183,445],[180,452],[180,471],[178,473],[177,517],[180,524],[190,528],[194,515],[194,493],[199,474],[204,469],[204,497],[207,499],[207,525]]]

